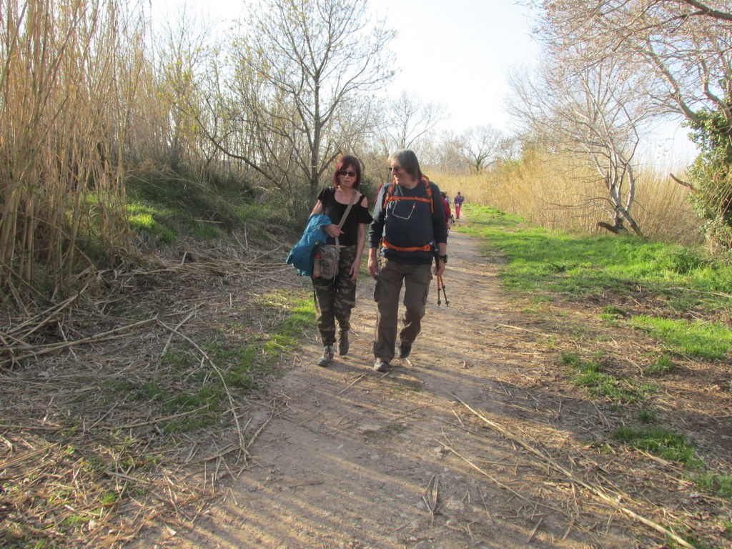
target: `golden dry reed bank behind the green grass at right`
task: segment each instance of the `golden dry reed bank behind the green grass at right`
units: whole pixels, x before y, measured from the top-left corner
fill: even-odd
[[[701,221],[687,200],[687,189],[649,168],[637,174],[632,215],[652,239],[685,244],[702,242]],[[530,223],[564,231],[597,232],[597,222],[612,223],[607,191],[597,175],[567,158],[529,157],[520,165],[485,175],[435,174],[441,190],[458,191],[471,203],[518,214]]]

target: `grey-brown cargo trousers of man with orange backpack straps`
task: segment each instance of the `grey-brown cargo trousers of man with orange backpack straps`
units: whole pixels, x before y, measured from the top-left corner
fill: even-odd
[[[404,283],[403,328],[399,332],[400,343],[411,344],[422,331],[427,294],[432,282],[432,265],[406,265],[389,259],[381,260],[373,298],[378,305],[373,354],[377,359],[391,362],[397,339],[399,294]]]

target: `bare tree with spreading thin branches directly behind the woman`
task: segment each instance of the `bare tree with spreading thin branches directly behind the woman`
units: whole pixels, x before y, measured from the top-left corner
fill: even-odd
[[[393,75],[393,37],[371,25],[366,0],[263,0],[233,37],[209,137],[291,204],[301,182],[314,199],[328,165],[367,131],[370,92]]]

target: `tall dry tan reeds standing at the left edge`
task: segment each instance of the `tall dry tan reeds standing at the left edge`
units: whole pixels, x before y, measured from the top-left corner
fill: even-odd
[[[2,12],[0,285],[17,302],[67,289],[83,250],[109,263],[128,247],[140,38],[116,2],[5,0]]]

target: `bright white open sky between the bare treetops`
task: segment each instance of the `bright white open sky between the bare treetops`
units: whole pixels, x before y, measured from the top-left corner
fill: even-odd
[[[187,11],[217,23],[242,14],[247,0],[144,0],[156,8]],[[447,119],[438,130],[460,133],[490,125],[512,133],[506,111],[511,70],[539,63],[540,48],[531,37],[529,8],[515,0],[369,0],[374,17],[386,18],[397,31],[390,48],[399,71],[392,89],[423,102],[444,106]],[[159,12],[159,11],[158,11]],[[168,14],[170,15],[170,14]],[[673,123],[645,144],[646,156],[660,165],[685,164],[694,149],[686,131]]]

